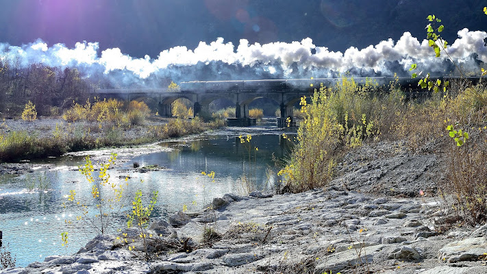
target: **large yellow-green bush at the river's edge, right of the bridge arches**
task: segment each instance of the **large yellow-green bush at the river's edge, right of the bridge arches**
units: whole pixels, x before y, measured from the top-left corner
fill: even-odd
[[[301,192],[325,186],[331,179],[342,149],[362,144],[379,134],[373,116],[377,99],[371,99],[353,79],[343,77],[334,88],[323,84],[308,105],[301,98],[304,120],[297,132],[297,145],[279,175],[286,190]]]

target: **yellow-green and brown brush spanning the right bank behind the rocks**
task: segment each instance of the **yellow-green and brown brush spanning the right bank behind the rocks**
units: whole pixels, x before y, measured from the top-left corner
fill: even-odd
[[[438,155],[447,162],[447,179],[438,182],[438,189],[453,197],[448,203],[464,222],[486,222],[487,88],[460,81],[448,93],[409,102],[393,85],[385,93],[362,90],[353,79],[343,79],[334,88],[316,90],[311,105],[302,100],[299,143],[279,172],[284,190],[326,186],[340,155],[364,141],[405,140],[413,153],[446,151]],[[469,133],[465,145],[449,137],[447,125]]]

